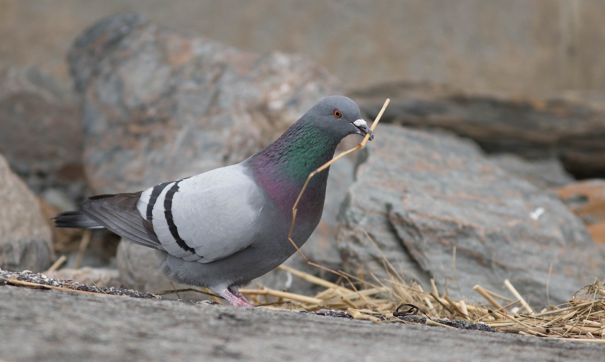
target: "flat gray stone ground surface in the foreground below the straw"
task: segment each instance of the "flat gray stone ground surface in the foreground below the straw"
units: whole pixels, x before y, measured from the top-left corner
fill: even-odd
[[[605,344],[0,286],[5,361],[602,361]]]

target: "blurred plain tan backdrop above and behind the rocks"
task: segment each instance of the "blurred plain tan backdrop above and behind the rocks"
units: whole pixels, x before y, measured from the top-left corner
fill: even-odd
[[[37,65],[67,81],[74,37],[119,12],[247,50],[306,54],[347,90],[399,79],[605,90],[601,0],[0,0],[0,70]]]

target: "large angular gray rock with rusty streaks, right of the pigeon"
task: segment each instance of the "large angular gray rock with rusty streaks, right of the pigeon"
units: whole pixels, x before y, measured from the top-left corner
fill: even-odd
[[[337,239],[349,272],[385,277],[371,238],[408,279],[434,277],[456,298],[477,283],[502,292],[509,279],[531,302],[556,304],[604,274],[603,249],[556,194],[470,142],[382,125],[367,150]]]

